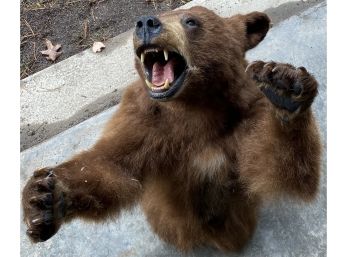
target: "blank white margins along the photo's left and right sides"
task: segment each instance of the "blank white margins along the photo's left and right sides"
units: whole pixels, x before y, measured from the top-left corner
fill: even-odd
[[[227,1],[227,0],[226,0]],[[348,1],[328,1],[328,256],[348,245]],[[19,256],[20,1],[0,14],[0,256]]]

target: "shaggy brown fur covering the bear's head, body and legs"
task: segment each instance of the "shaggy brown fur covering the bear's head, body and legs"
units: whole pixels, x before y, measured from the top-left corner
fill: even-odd
[[[199,29],[181,25],[189,15],[199,19]],[[154,41],[188,61],[183,90],[171,101],[150,99],[136,57],[141,79],[128,87],[99,141],[68,162],[36,171],[24,188],[34,242],[72,218],[103,220],[140,202],[154,232],[177,248],[237,251],[253,234],[263,199],[280,193],[314,198],[320,164],[310,110],[314,78],[272,63],[283,69],[279,79],[304,78],[295,97],[301,109],[290,115],[253,80],[267,70],[265,63],[245,72],[245,51],[264,38],[269,18],[258,12],[221,18],[202,7],[159,18],[165,29]],[[139,44],[135,38],[135,49]],[[257,82],[273,86],[261,75]]]

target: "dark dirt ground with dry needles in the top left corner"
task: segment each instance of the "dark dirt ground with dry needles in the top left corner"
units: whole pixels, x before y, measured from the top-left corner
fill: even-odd
[[[21,0],[21,74],[25,78],[62,61],[96,41],[134,26],[141,15],[177,8],[190,0]],[[46,60],[45,39],[61,44],[62,55]]]

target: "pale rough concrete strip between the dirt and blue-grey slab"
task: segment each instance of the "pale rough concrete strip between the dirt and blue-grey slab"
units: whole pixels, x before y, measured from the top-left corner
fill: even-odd
[[[222,16],[269,10],[274,21],[322,0],[193,0]],[[272,12],[273,10],[273,12]],[[87,49],[21,81],[21,150],[36,145],[115,105],[137,78],[132,31],[106,43],[102,53]]]

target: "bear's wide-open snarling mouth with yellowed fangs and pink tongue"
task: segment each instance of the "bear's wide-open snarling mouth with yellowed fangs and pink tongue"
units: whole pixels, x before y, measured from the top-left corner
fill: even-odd
[[[187,74],[187,62],[178,51],[151,45],[139,47],[136,54],[144,70],[150,97],[166,100],[178,93]]]

